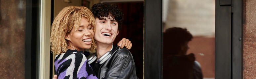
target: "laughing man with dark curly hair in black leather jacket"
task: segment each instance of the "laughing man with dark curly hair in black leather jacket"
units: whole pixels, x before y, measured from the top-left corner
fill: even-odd
[[[121,29],[123,13],[108,3],[98,3],[91,8],[96,20],[97,61],[90,64],[99,79],[137,79],[133,56],[126,48],[112,45]],[[106,62],[99,61],[107,53]],[[105,57],[106,58],[106,57]]]

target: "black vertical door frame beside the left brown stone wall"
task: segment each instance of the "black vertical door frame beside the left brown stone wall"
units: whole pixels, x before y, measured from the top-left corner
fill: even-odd
[[[40,0],[26,0],[25,79],[38,78]]]

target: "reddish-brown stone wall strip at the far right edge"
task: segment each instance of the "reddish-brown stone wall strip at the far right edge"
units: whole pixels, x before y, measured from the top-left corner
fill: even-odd
[[[243,0],[243,79],[256,78],[256,0]]]

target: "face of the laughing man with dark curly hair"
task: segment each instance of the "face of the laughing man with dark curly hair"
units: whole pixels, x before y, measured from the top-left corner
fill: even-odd
[[[112,44],[118,35],[118,23],[113,18],[96,18],[95,40],[97,43]]]

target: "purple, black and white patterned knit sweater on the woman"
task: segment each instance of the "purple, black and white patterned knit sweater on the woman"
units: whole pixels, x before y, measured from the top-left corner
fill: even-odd
[[[55,56],[54,73],[59,79],[97,79],[83,51],[70,50]]]

